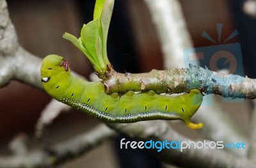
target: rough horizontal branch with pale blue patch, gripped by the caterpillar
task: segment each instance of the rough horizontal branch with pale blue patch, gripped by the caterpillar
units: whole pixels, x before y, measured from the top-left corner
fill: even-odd
[[[235,74],[222,74],[203,67],[152,70],[149,73],[115,73],[111,80],[103,81],[106,92],[136,92],[154,90],[157,94],[177,94],[197,88],[205,94],[232,98],[256,98],[256,80]]]

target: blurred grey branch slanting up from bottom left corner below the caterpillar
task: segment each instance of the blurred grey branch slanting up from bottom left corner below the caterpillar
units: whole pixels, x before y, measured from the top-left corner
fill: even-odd
[[[77,135],[52,146],[51,153],[46,153],[43,150],[33,150],[23,155],[0,157],[0,168],[58,165],[83,155],[86,151],[114,136],[116,136],[114,130],[101,124],[84,134]]]

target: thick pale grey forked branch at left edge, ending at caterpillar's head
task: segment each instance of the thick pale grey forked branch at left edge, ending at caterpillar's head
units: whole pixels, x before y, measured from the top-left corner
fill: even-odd
[[[0,15],[0,87],[14,79],[42,88],[40,83],[42,60],[19,45],[4,0],[0,0]]]

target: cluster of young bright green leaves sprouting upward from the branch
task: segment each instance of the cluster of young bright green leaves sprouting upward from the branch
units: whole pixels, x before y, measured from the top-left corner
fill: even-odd
[[[113,12],[114,0],[96,0],[93,20],[81,29],[81,37],[77,39],[67,32],[63,38],[71,41],[93,64],[95,71],[104,75],[111,64],[107,55],[108,29]]]

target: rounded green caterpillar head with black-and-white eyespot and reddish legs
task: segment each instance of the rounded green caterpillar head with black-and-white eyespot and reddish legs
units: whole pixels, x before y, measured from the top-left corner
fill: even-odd
[[[41,81],[44,86],[51,86],[70,74],[68,61],[59,55],[47,55],[41,66]]]

